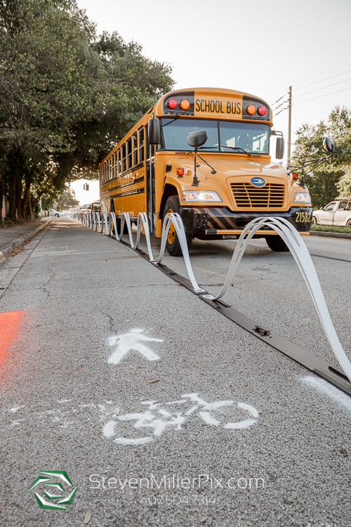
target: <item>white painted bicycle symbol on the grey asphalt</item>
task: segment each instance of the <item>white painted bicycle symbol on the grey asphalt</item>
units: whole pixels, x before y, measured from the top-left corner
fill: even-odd
[[[253,406],[246,403],[237,403],[237,408],[245,410],[249,414],[246,418],[239,422],[221,422],[218,416],[220,409],[226,406],[234,405],[234,401],[217,401],[216,403],[206,403],[204,399],[199,397],[198,393],[185,393],[181,396],[180,401],[170,401],[168,403],[157,403],[157,401],[143,401],[142,405],[147,405],[145,412],[135,412],[130,414],[123,414],[113,416],[117,421],[110,420],[102,428],[102,434],[106,438],[114,438],[114,443],[119,445],[144,445],[154,441],[155,438],[161,436],[164,431],[168,429],[181,430],[182,425],[187,419],[192,417],[199,417],[206,424],[213,427],[223,427],[225,429],[243,430],[252,427],[258,419],[258,411]],[[182,409],[179,411],[178,406],[192,403],[188,410]],[[164,407],[168,408],[164,408]],[[176,408],[176,410],[173,410]],[[217,414],[216,414],[217,412]],[[147,435],[138,438],[129,438],[118,436],[119,422],[135,421],[133,428],[135,429],[152,429],[152,435]],[[116,437],[117,436],[117,437]]]

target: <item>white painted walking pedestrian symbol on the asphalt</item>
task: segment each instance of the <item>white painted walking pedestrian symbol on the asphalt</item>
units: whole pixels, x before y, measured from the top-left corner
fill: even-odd
[[[157,353],[152,351],[152,349],[147,348],[145,344],[142,344],[140,341],[149,341],[149,342],[163,342],[162,339],[150,339],[144,333],[145,330],[136,328],[131,330],[130,333],[124,335],[115,335],[110,337],[109,344],[110,346],[115,346],[117,348],[108,358],[107,362],[109,364],[118,364],[126,356],[129,351],[139,351],[147,360],[159,360]]]

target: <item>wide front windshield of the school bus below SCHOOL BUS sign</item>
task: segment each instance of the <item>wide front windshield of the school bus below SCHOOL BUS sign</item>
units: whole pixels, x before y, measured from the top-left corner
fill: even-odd
[[[217,121],[216,119],[161,119],[161,150],[194,150],[187,144],[187,134],[206,130],[208,139],[198,150],[206,152],[268,154],[270,126],[260,123]]]

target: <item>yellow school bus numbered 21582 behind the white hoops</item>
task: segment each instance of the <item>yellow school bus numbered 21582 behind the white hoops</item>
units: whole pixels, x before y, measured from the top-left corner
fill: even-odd
[[[128,212],[132,221],[146,212],[157,238],[166,213],[178,212],[189,245],[193,238],[239,238],[258,216],[284,217],[308,235],[310,193],[282,162],[271,163],[274,135],[282,159],[282,134],[256,96],[215,88],[166,93],[100,164],[101,212],[117,219]],[[287,250],[273,230],[257,237],[274,251]],[[180,254],[173,226],[166,247]]]

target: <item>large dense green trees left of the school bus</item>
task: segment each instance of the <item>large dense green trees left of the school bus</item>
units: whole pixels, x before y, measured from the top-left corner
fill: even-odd
[[[44,193],[96,178],[98,162],[173,85],[171,67],[76,0],[0,0],[0,207],[28,216]]]

